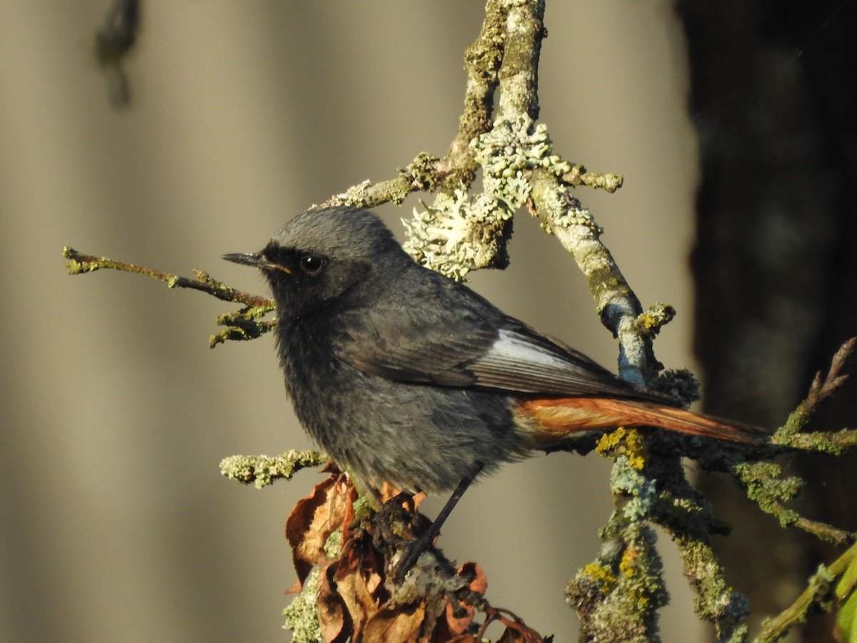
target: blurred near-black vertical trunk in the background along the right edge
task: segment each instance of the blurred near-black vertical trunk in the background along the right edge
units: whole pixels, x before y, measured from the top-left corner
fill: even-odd
[[[677,10],[701,141],[692,264],[705,410],[776,427],[857,334],[857,3],[680,0]],[[827,429],[857,425],[854,382],[822,415]],[[802,514],[857,529],[857,459],[782,464],[809,483]],[[702,481],[734,525],[720,550],[758,628],[834,552],[720,483]],[[830,637],[830,622],[809,628],[806,640]]]

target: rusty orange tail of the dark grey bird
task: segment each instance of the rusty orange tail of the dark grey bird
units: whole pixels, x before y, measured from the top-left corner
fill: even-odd
[[[749,424],[685,411],[646,400],[609,400],[603,398],[565,398],[526,400],[519,413],[532,426],[537,437],[558,439],[574,431],[607,429],[614,426],[656,426],[661,429],[713,437],[728,442],[762,444],[770,433]]]

